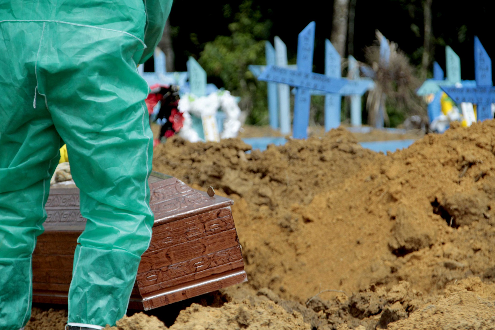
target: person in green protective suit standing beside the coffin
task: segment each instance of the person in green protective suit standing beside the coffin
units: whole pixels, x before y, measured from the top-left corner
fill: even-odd
[[[0,0],[0,329],[19,330],[32,302],[62,140],[87,218],[68,297],[69,329],[115,325],[127,310],[153,214],[152,136],[137,71],[171,0]]]

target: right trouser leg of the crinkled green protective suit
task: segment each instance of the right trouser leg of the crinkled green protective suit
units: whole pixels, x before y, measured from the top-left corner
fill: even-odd
[[[143,45],[123,33],[94,30],[47,24],[47,36],[70,47],[41,47],[38,90],[67,144],[88,219],[74,256],[68,323],[104,327],[125,314],[151,238],[152,134],[148,85],[134,60]]]

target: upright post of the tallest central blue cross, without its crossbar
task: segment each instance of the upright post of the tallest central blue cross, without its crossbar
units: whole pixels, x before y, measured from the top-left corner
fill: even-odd
[[[297,37],[297,71],[313,71],[315,22],[309,23]],[[307,127],[309,123],[309,106],[311,103],[311,92],[306,88],[298,88],[294,100],[294,130],[295,139],[307,138]]]

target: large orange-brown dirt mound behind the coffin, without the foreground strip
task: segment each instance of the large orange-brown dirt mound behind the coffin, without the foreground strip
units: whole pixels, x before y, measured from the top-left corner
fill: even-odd
[[[494,129],[454,124],[388,156],[342,128],[250,155],[240,140],[172,139],[153,167],[236,200],[256,289],[303,302],[406,280],[439,293],[456,279],[495,277]]]

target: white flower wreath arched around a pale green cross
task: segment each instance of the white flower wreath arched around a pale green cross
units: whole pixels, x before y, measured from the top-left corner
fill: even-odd
[[[225,114],[223,120],[223,131],[220,133],[221,139],[237,137],[241,129],[241,109],[237,104],[235,96],[229,91],[219,90],[207,96],[196,96],[194,94],[184,94],[181,96],[178,105],[179,111],[184,117],[182,129],[179,135],[191,142],[201,141],[198,132],[193,128],[193,117],[202,118],[217,115],[221,110]]]

